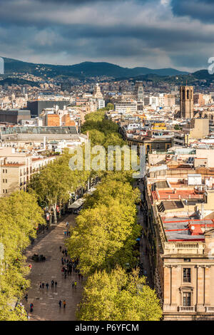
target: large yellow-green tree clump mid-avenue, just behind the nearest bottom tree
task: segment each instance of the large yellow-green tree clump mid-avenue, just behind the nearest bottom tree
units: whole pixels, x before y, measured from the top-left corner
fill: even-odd
[[[76,218],[76,227],[71,229],[68,252],[79,259],[82,274],[112,269],[116,264],[124,267],[137,263],[133,247],[141,232],[136,223],[139,194],[129,182],[118,179],[121,179],[120,173],[103,177]]]

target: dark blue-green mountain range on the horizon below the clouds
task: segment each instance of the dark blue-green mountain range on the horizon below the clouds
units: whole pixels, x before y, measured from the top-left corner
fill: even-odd
[[[4,58],[4,73],[9,75],[11,73],[31,73],[35,76],[47,76],[54,78],[57,76],[66,76],[74,78],[89,78],[96,76],[108,76],[113,78],[121,77],[136,77],[148,74],[157,76],[180,76],[188,74],[188,72],[178,71],[174,68],[160,68],[151,69],[146,67],[123,68],[112,63],[106,62],[83,62],[75,65],[51,65],[28,63],[24,61],[17,61],[12,58]]]

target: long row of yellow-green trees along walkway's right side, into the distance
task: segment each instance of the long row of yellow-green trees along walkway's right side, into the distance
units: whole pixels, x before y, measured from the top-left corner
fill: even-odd
[[[124,145],[118,125],[104,113],[87,115],[83,131],[93,145]],[[131,171],[105,172],[88,196],[71,229],[68,252],[78,258],[78,269],[88,279],[77,317],[83,321],[156,321],[162,311],[156,293],[139,277],[136,220],[139,191],[133,189]],[[133,269],[131,271],[131,269]]]

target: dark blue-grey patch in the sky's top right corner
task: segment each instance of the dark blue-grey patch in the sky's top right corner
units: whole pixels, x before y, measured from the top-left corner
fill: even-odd
[[[172,0],[173,14],[177,16],[190,16],[203,22],[214,23],[213,0]]]

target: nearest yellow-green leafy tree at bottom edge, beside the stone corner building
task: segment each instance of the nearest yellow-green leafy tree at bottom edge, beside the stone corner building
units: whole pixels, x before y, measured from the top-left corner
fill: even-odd
[[[117,267],[88,277],[76,314],[81,321],[159,321],[162,310],[138,270],[127,274]]]

